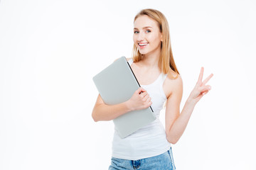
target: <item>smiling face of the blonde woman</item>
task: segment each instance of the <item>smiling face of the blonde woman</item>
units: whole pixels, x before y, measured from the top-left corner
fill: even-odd
[[[161,32],[158,23],[149,16],[139,16],[134,22],[134,45],[142,55],[161,51]]]

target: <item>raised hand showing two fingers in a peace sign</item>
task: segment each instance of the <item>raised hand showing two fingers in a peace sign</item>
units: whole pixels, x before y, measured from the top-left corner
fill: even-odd
[[[213,74],[210,74],[203,82],[203,67],[201,67],[201,72],[198,77],[198,81],[196,83],[196,86],[194,87],[193,91],[191,91],[191,94],[188,98],[193,100],[195,103],[197,103],[203,95],[207,94],[208,91],[210,91],[211,87],[209,85],[206,85],[206,83],[210,80],[210,78],[213,77]]]

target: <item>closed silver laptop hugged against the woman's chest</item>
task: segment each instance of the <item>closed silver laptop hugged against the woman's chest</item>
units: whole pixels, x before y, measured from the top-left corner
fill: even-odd
[[[102,100],[107,105],[128,101],[140,87],[125,57],[120,57],[92,79]],[[143,110],[120,115],[113,122],[119,137],[124,138],[154,120],[156,120],[156,116],[150,106]]]

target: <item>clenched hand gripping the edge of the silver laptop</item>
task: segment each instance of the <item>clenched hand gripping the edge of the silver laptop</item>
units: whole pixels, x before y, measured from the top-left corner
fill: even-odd
[[[134,92],[132,97],[127,101],[127,106],[132,111],[142,110],[144,108],[149,108],[151,106],[151,98],[145,89],[140,87]]]

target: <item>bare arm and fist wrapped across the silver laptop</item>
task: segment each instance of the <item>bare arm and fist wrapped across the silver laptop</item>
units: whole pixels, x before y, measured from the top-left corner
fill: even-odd
[[[143,93],[142,93],[143,92]],[[151,106],[151,98],[149,94],[143,89],[139,88],[134,92],[133,96],[124,103],[117,105],[107,105],[102,101],[101,96],[97,97],[95,107],[92,110],[92,118],[97,121],[113,120],[129,111],[141,110]]]

